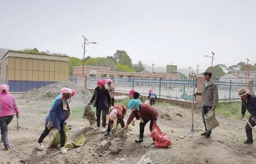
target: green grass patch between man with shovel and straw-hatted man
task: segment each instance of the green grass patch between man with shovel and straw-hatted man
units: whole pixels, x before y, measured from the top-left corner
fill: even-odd
[[[241,102],[218,103],[216,113],[234,119],[239,119],[241,118]],[[250,117],[249,112],[246,112],[245,115],[247,118]]]

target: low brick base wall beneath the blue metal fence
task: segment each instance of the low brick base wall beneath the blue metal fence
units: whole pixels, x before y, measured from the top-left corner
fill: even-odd
[[[92,94],[94,92],[94,89],[91,89],[91,88],[87,88],[87,90],[89,90]],[[129,96],[129,94],[116,92],[116,96]],[[143,98],[142,103],[144,103],[145,100],[147,99],[147,96],[142,96],[142,98]],[[190,101],[180,101],[180,100],[174,100],[174,99],[157,98],[157,102],[170,103],[172,105],[178,105],[183,108],[192,108],[192,102],[190,102]],[[196,103],[194,105],[196,105]]]

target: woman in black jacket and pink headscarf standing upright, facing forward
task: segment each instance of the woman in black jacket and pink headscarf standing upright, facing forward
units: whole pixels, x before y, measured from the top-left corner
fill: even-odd
[[[111,107],[111,97],[109,95],[109,91],[105,88],[106,83],[107,82],[104,79],[99,79],[97,81],[98,87],[94,89],[92,99],[90,100],[90,103],[88,103],[88,105],[93,103],[93,106],[96,107],[97,127],[94,128],[94,130],[100,129],[100,115],[102,112],[102,132],[106,131],[106,115],[109,108]]]

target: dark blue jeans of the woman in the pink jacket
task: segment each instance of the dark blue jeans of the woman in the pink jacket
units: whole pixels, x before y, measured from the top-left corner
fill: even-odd
[[[8,126],[9,123],[11,123],[12,120],[13,120],[13,115],[0,117],[0,129],[1,129],[1,135],[2,135],[1,138],[4,142],[5,147],[7,145],[9,145],[8,135],[7,135],[7,131],[8,131],[7,126]]]

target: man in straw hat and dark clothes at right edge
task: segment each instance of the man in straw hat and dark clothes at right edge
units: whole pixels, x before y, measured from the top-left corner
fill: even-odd
[[[256,95],[249,94],[248,90],[243,88],[239,90],[238,94],[242,100],[241,117],[245,117],[245,111],[247,110],[251,114],[248,121],[254,127],[256,125]],[[252,144],[252,128],[248,123],[245,125],[245,132],[247,140],[243,143]]]

